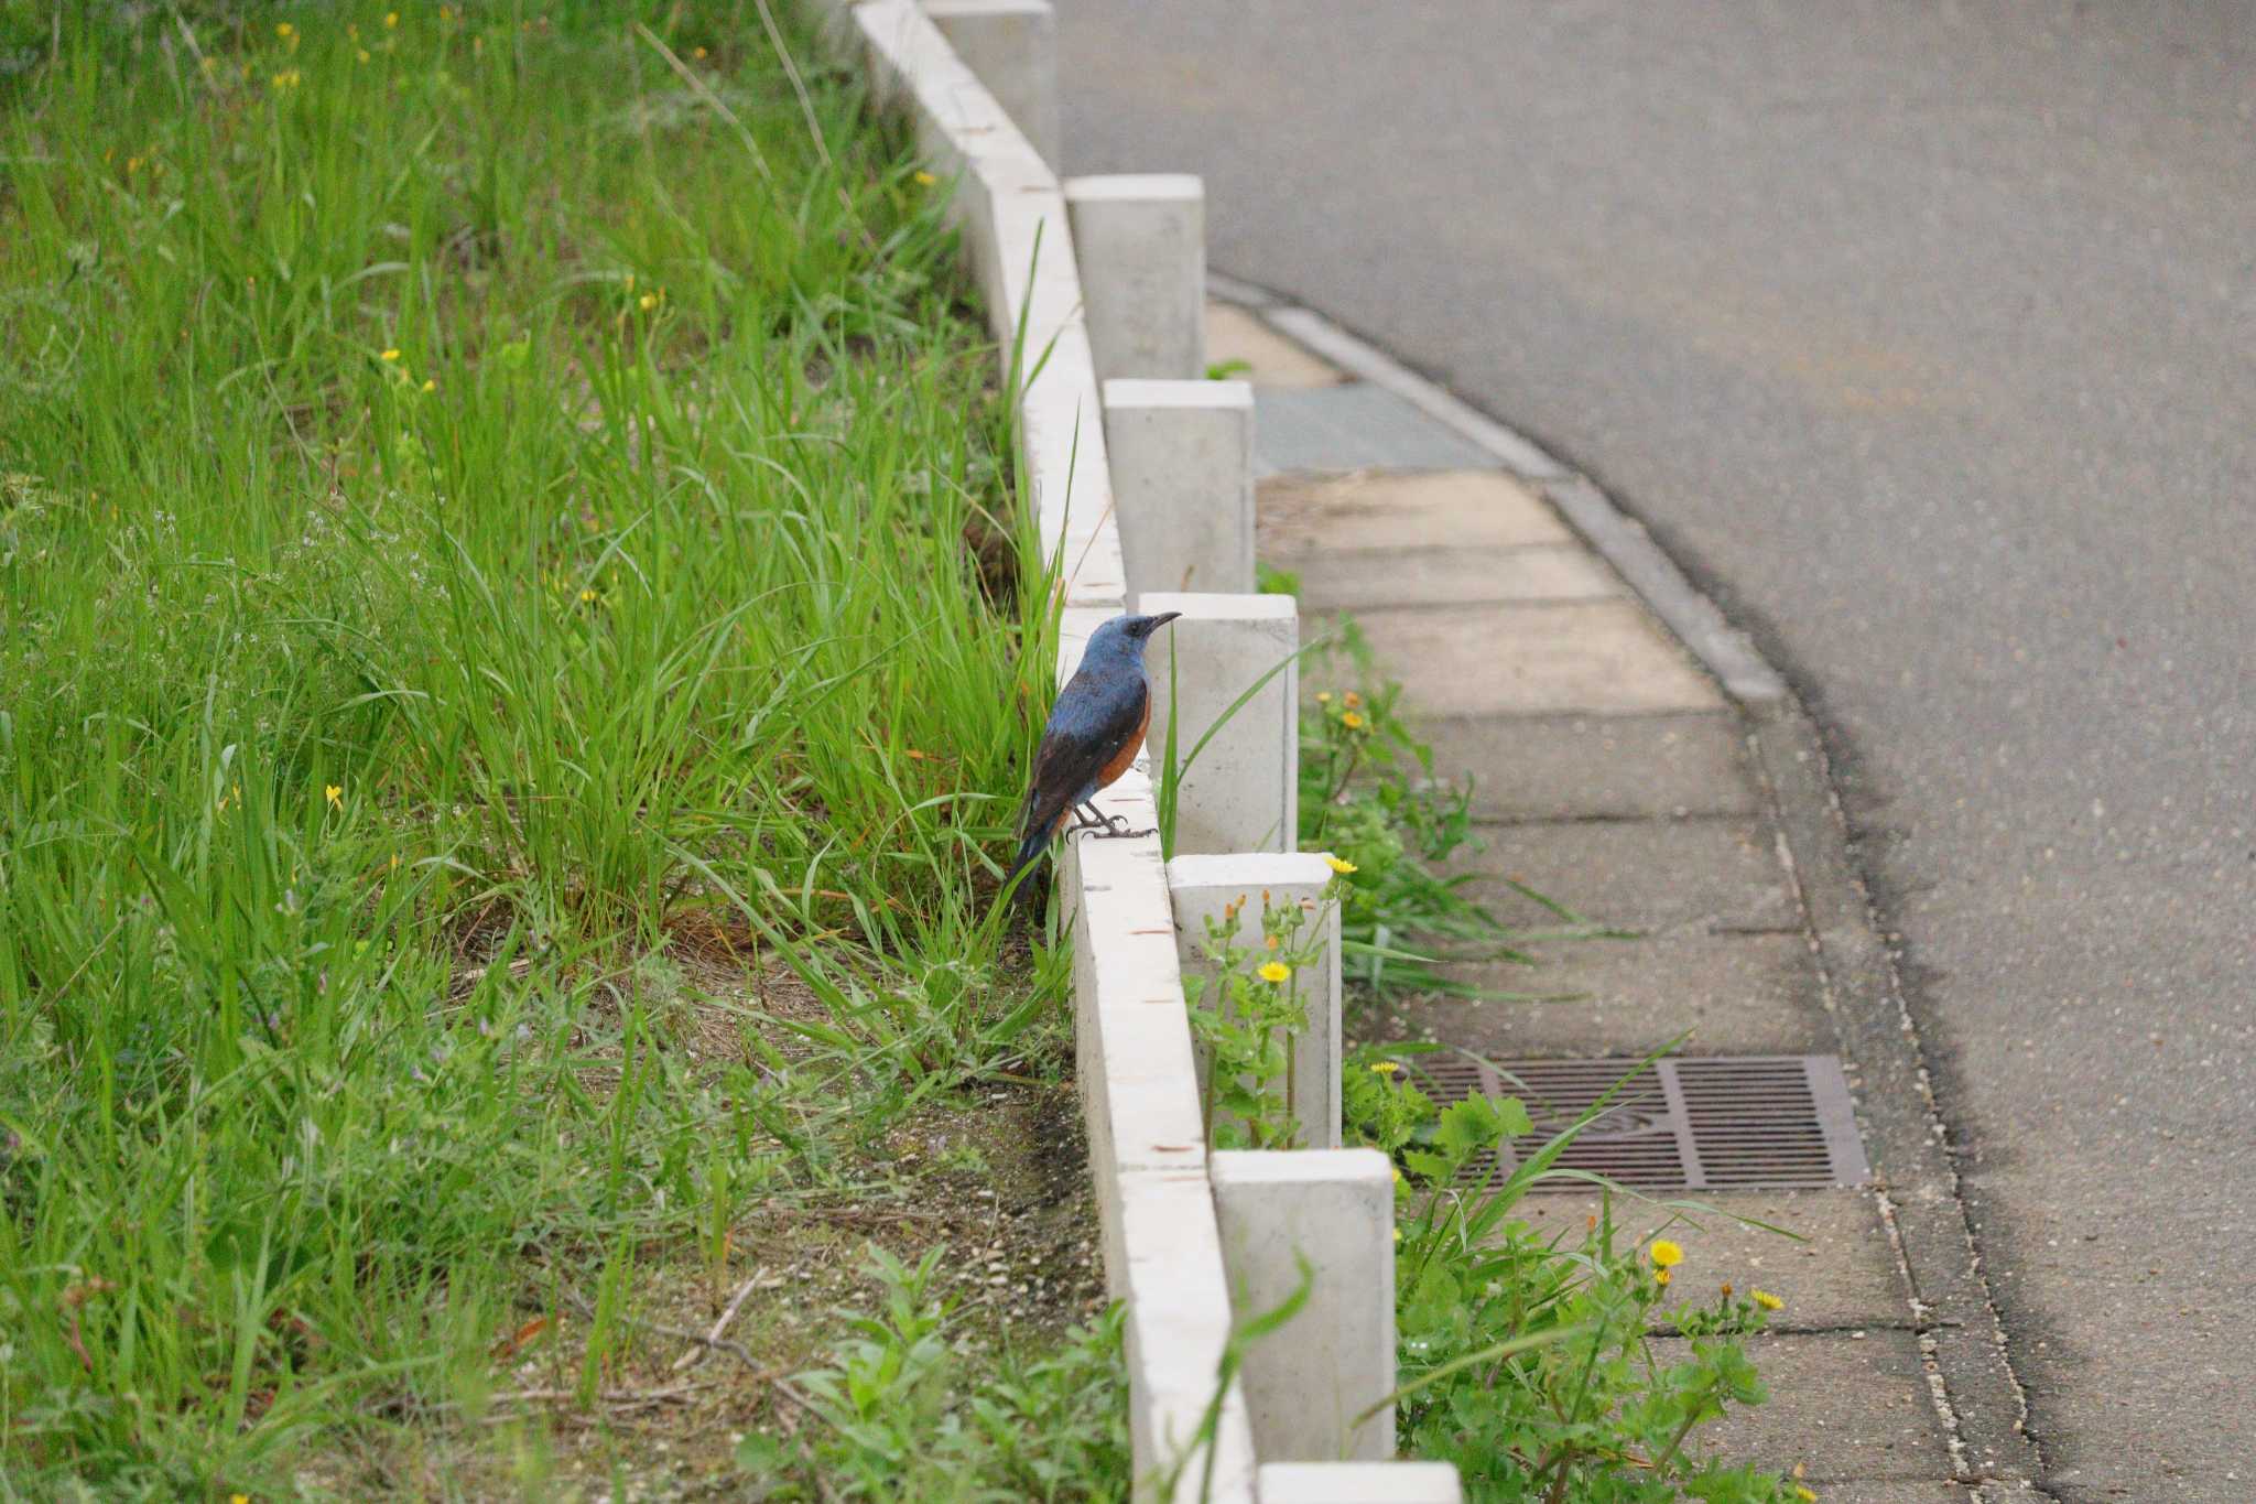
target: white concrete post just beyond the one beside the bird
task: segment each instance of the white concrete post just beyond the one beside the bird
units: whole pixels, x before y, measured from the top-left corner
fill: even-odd
[[[1254,589],[1254,388],[1105,381],[1105,451],[1130,591]]]

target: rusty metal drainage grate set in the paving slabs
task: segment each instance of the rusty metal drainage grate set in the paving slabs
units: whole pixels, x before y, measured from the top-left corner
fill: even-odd
[[[1521,1098],[1536,1132],[1505,1145],[1507,1154],[1534,1152],[1636,1071],[1557,1164],[1638,1191],[1787,1191],[1870,1179],[1834,1055],[1701,1055],[1642,1069],[1636,1060],[1489,1064],[1428,1055],[1403,1067],[1437,1103],[1473,1091]],[[1541,1186],[1577,1191],[1584,1182]]]

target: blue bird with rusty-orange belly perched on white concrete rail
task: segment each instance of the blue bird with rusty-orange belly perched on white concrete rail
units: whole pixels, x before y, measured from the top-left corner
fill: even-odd
[[[1026,785],[1026,809],[1017,823],[1017,861],[1002,879],[1008,891],[1017,875],[1033,866],[1065,830],[1103,830],[1105,837],[1137,837],[1117,814],[1101,814],[1096,789],[1108,787],[1135,762],[1151,726],[1151,672],[1144,647],[1151,634],[1182,611],[1157,616],[1114,616],[1090,636],[1081,667],[1058,690],[1042,726],[1042,744],[1033,753],[1033,778]]]

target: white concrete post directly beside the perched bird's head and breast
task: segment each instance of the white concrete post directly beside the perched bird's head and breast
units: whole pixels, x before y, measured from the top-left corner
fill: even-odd
[[[1137,595],[1137,611],[1180,611],[1164,643],[1144,654],[1151,667],[1153,782],[1166,776],[1166,735],[1175,728],[1175,855],[1293,850],[1299,846],[1299,602],[1290,595]],[[1236,715],[1239,695],[1284,665]],[[1191,749],[1207,731],[1205,751]]]

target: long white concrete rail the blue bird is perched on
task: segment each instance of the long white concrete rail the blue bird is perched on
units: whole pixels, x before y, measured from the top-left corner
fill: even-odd
[[[1045,552],[1063,559],[1058,681],[1087,634],[1126,607],[1103,401],[1083,316],[1065,192],[1056,171],[914,0],[819,0],[830,45],[857,54],[878,104],[907,115],[918,151],[957,180],[988,318],[1008,359],[1024,329],[1017,392],[1022,474]],[[1148,760],[1105,796],[1135,828],[1157,825]],[[1060,857],[1072,913],[1074,1033],[1090,1170],[1105,1231],[1105,1283],[1128,1308],[1137,1495],[1182,1461],[1216,1398],[1232,1333],[1220,1231],[1198,1118],[1191,1028],[1157,837],[1083,843]],[[1209,1457],[1173,1497],[1254,1497],[1243,1389],[1220,1396]]]

